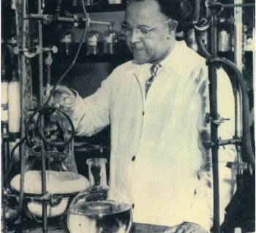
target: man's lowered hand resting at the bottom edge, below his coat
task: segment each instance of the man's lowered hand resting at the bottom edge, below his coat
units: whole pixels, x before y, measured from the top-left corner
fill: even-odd
[[[203,226],[198,224],[184,222],[180,225],[173,226],[164,233],[208,233]]]

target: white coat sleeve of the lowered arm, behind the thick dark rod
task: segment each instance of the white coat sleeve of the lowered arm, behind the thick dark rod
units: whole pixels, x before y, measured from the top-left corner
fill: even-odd
[[[234,97],[233,89],[226,73],[218,70],[218,112],[223,118],[230,118],[228,123],[219,126],[219,137],[222,140],[233,138],[234,134]],[[203,164],[197,173],[199,182],[195,188],[195,196],[192,206],[184,221],[194,222],[203,226],[210,232],[213,226],[213,181],[211,150],[206,150],[203,141],[211,141],[210,124],[206,123],[205,115],[209,112],[208,85],[202,83],[202,88],[198,92],[197,102],[200,103],[200,114],[198,114],[198,148],[203,156]],[[224,220],[225,207],[233,196],[235,177],[233,171],[226,167],[227,161],[235,161],[236,150],[234,145],[227,145],[226,149],[219,148],[219,199],[220,199],[220,223]]]

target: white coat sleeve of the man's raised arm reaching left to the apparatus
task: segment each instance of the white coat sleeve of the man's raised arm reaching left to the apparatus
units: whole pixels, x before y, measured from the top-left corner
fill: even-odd
[[[96,93],[85,99],[77,94],[75,111],[71,115],[76,135],[90,137],[109,125],[110,78],[102,81]]]

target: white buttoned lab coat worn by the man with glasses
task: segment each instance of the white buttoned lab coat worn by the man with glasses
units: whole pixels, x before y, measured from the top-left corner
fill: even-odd
[[[192,221],[209,230],[211,156],[202,145],[202,138],[210,140],[205,122],[209,112],[206,61],[185,42],[177,42],[161,64],[146,100],[145,71],[150,77],[151,65],[129,61],[118,66],[92,96],[84,100],[77,96],[72,120],[77,134],[86,136],[110,123],[110,186],[135,205],[133,221],[165,226]],[[232,88],[222,70],[219,84],[219,113],[234,120]],[[222,140],[233,137],[231,124],[219,127],[225,134],[219,134]],[[225,164],[235,155],[229,149],[219,151],[222,210],[233,191]]]

